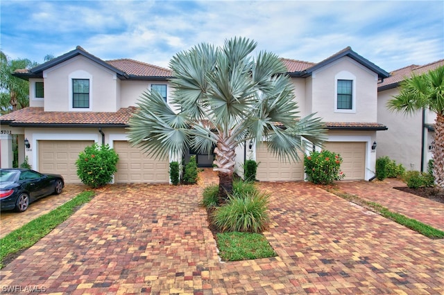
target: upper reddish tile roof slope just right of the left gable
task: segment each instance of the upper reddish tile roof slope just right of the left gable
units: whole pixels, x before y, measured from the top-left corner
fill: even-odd
[[[164,69],[153,64],[146,64],[145,62],[138,62],[129,58],[122,58],[119,60],[107,60],[111,66],[127,73],[139,77],[171,77],[172,71]]]

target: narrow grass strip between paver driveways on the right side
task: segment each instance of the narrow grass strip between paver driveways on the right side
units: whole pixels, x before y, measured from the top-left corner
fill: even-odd
[[[407,228],[416,231],[420,233],[421,235],[425,235],[427,238],[432,239],[443,239],[444,238],[444,231],[441,231],[439,229],[435,229],[432,226],[429,226],[428,224],[424,224],[422,222],[419,222],[418,220],[414,220],[412,218],[409,218],[407,216],[404,216],[400,213],[395,213],[388,208],[377,204],[375,202],[366,201],[365,199],[361,199],[357,195],[352,195],[348,193],[343,193],[336,189],[330,189],[327,188],[327,191],[330,193],[334,193],[334,195],[337,195],[339,197],[342,197],[343,199],[346,199],[352,203],[358,204],[359,206],[363,206],[364,208],[373,211],[375,213],[378,213],[389,220],[393,220],[394,222],[397,222],[398,224],[401,224],[403,226],[406,226]]]

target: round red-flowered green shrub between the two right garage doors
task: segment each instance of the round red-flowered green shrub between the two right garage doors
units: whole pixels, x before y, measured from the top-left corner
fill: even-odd
[[[332,184],[335,180],[345,177],[341,171],[341,155],[323,150],[321,152],[311,152],[305,155],[305,172],[307,178],[314,184]]]

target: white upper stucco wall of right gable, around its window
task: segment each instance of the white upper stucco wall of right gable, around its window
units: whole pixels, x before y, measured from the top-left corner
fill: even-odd
[[[355,112],[335,111],[335,77],[344,74],[355,79]],[[317,112],[325,122],[376,122],[377,74],[349,57],[332,62],[315,71],[311,78],[311,111]]]

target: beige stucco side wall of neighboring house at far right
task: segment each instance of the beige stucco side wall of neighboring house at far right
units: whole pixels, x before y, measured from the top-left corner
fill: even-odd
[[[407,170],[420,170],[422,111],[416,111],[413,115],[388,111],[388,100],[398,93],[398,89],[378,93],[377,120],[388,130],[377,134],[377,157],[387,156],[402,163]]]

